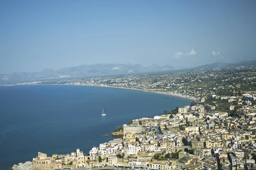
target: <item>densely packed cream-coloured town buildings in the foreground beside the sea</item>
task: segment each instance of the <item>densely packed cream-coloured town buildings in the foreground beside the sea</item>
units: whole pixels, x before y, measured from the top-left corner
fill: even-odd
[[[122,136],[93,147],[89,154],[79,149],[52,156],[38,152],[31,168],[256,169],[255,91],[233,96],[212,92],[163,115],[134,119],[116,131]]]

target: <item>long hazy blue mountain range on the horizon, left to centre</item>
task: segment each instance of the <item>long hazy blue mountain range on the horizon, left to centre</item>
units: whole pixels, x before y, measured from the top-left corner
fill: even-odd
[[[141,64],[94,64],[66,67],[58,70],[45,68],[39,72],[18,72],[12,74],[0,74],[0,83],[6,81],[23,81],[36,79],[50,79],[79,76],[109,76],[118,74],[132,74],[173,69],[170,65],[151,65],[145,67]]]

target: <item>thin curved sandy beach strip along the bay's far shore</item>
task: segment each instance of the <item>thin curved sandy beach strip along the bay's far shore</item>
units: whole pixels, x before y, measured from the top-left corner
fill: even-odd
[[[24,84],[24,85],[76,85],[76,84]],[[0,87],[5,87],[5,86],[16,86],[16,85],[1,85]],[[197,98],[192,97],[192,96],[185,96],[182,94],[172,94],[164,91],[151,91],[151,90],[143,90],[143,89],[138,89],[138,88],[126,88],[126,87],[119,87],[119,86],[107,86],[107,85],[80,85],[80,86],[96,86],[96,87],[106,87],[106,88],[123,88],[123,89],[130,89],[130,90],[139,90],[139,91],[145,91],[145,92],[152,92],[152,93],[157,93],[157,94],[165,94],[169,96],[175,96],[175,97],[180,97],[183,99],[189,99],[189,100],[197,100]]]

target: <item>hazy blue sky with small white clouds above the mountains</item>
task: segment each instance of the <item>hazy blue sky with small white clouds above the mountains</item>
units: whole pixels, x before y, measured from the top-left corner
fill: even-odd
[[[0,0],[0,73],[256,59],[256,0]]]

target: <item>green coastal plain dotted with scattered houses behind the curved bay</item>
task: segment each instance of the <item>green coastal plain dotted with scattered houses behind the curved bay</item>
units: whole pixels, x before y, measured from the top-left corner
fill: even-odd
[[[240,66],[210,70],[176,70],[101,77],[67,77],[9,82],[3,85],[90,85],[131,88],[170,94],[192,100],[212,93],[236,96],[241,91],[256,91],[256,68]]]

